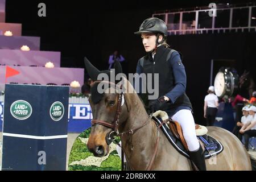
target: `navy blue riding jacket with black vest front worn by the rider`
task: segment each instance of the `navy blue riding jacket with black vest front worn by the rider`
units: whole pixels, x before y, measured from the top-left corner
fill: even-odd
[[[166,96],[170,98],[167,106],[163,109],[170,117],[181,109],[192,111],[191,102],[185,94],[187,77],[179,52],[165,46],[159,46],[154,58],[151,53],[148,53],[148,55],[139,59],[136,72],[138,74],[159,74],[159,97]],[[153,77],[152,85],[155,81]],[[140,85],[143,84],[140,83]],[[142,88],[137,90],[139,93],[141,91]]]

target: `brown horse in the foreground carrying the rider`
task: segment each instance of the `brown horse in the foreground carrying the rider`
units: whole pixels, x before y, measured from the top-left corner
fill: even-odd
[[[93,72],[90,77],[96,81],[100,73],[97,68],[90,65],[86,69]],[[110,86],[97,104],[89,98],[93,114],[87,143],[89,151],[98,157],[108,155],[108,136],[118,131],[131,170],[193,170],[191,161],[172,146],[162,130],[158,130],[131,83],[123,77],[122,84],[112,82],[112,85],[126,92],[118,93]],[[209,126],[207,129],[208,135],[224,147],[217,156],[205,159],[207,170],[251,170],[250,156],[235,135],[220,127]]]

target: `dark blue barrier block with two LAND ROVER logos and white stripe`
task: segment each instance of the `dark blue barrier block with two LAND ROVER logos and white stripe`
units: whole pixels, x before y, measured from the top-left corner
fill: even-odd
[[[5,87],[2,170],[65,170],[68,86]]]

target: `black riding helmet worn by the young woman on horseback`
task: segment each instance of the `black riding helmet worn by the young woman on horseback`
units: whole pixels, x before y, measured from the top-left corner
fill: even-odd
[[[134,32],[137,35],[141,35],[142,33],[155,33],[157,35],[156,46],[163,43],[168,35],[166,23],[162,19],[155,17],[145,19],[139,27],[139,31]],[[164,35],[161,42],[158,42],[159,33]]]

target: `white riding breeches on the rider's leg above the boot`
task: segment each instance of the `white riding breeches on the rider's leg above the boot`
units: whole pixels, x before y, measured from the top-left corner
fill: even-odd
[[[191,110],[181,109],[177,111],[172,117],[172,120],[177,121],[183,131],[184,139],[188,145],[189,151],[196,151],[199,149],[199,141],[196,137],[195,121]]]

